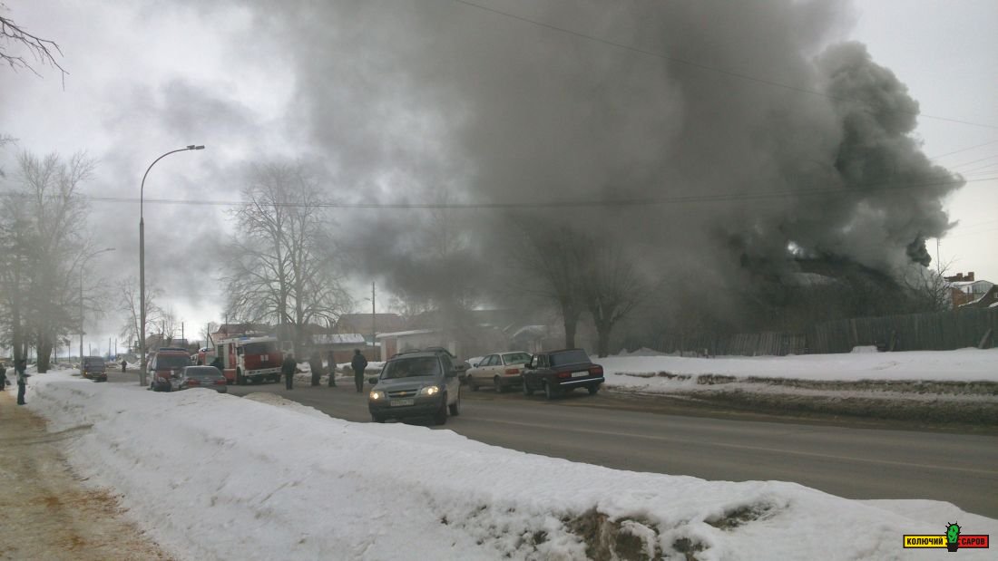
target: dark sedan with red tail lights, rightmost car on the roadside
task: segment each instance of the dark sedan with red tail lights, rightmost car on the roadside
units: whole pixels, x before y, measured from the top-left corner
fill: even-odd
[[[584,350],[549,351],[534,355],[526,365],[523,394],[532,396],[535,391],[543,391],[553,400],[576,388],[585,388],[590,395],[596,395],[604,382],[603,367],[593,364]]]

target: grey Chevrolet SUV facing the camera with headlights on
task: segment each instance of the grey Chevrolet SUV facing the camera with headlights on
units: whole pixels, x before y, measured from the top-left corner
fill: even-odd
[[[436,424],[447,422],[448,414],[461,414],[459,376],[464,370],[443,349],[393,356],[378,376],[368,379],[374,386],[367,396],[371,420],[432,417]]]

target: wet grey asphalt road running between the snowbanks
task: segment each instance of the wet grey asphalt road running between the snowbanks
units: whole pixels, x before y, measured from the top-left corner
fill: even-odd
[[[345,380],[335,389],[296,383],[288,392],[281,383],[229,390],[239,396],[271,392],[332,417],[370,421],[366,394],[356,394]],[[793,481],[847,498],[943,500],[998,518],[995,435],[759,421],[723,412],[670,415],[662,413],[667,408],[632,407],[627,398],[605,393],[576,392],[546,402],[462,390],[461,416],[443,427],[489,444],[634,471]]]

